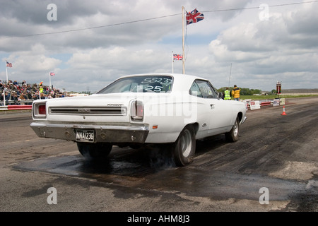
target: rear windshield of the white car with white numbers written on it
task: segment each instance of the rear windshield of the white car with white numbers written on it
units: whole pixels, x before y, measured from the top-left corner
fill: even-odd
[[[169,93],[171,76],[135,76],[119,78],[98,93]]]

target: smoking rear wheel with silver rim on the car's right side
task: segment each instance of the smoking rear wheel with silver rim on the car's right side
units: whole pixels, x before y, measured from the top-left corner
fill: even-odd
[[[196,135],[193,126],[188,125],[179,134],[177,141],[172,145],[173,160],[177,167],[189,165],[196,153]]]

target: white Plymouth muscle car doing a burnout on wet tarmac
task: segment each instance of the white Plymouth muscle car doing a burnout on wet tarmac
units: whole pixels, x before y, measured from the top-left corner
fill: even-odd
[[[237,141],[243,102],[223,100],[211,83],[185,74],[122,76],[97,93],[33,102],[37,136],[77,143],[83,156],[107,156],[113,145],[160,145],[177,166],[194,160],[196,140],[225,133]]]

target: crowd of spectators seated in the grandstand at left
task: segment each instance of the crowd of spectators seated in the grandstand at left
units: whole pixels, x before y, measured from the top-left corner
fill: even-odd
[[[65,97],[66,92],[49,86],[28,84],[26,81],[18,83],[9,80],[7,83],[0,80],[0,105],[32,105],[33,100]]]

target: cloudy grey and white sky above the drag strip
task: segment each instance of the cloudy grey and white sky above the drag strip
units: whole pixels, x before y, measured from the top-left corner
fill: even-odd
[[[52,5],[53,4],[53,5]],[[318,1],[0,0],[0,79],[95,92],[132,73],[185,73],[216,88],[318,88]],[[56,6],[56,7],[55,7]]]

